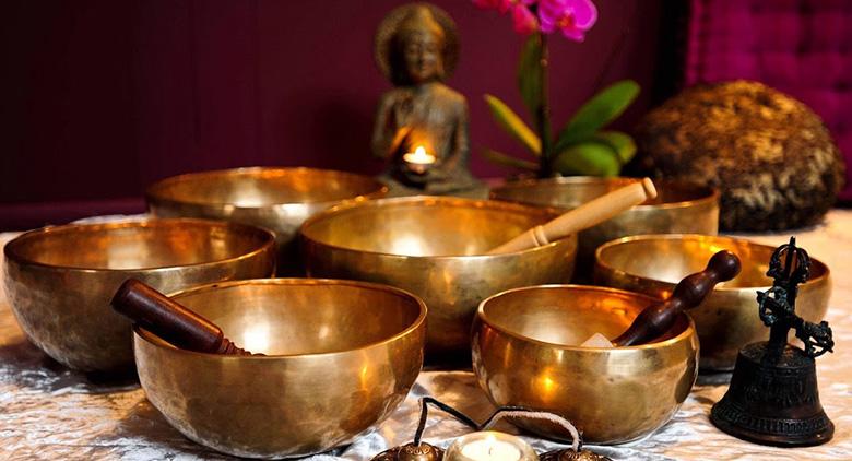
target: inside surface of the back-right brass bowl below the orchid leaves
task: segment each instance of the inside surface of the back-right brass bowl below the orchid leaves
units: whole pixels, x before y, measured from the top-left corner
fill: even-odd
[[[605,193],[639,179],[631,178],[587,178],[569,177],[547,180],[524,181],[494,189],[492,196],[500,200],[521,203],[534,203],[546,206],[573,209]],[[674,181],[654,181],[656,198],[649,199],[643,205],[672,205],[713,196],[710,188],[694,187]]]

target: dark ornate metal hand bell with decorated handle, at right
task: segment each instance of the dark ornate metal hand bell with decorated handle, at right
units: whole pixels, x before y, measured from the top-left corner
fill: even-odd
[[[731,387],[710,413],[710,421],[727,434],[756,444],[798,447],[825,444],[835,433],[819,403],[814,360],[832,352],[831,329],[825,321],[815,324],[795,315],[796,285],[807,280],[809,267],[795,237],[772,253],[767,275],[774,283],[757,295],[760,318],[771,329],[769,341],[739,351]],[[804,351],[786,343],[791,328]]]

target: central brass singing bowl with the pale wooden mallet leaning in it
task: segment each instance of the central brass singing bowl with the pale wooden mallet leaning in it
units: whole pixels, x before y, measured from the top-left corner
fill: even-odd
[[[476,305],[509,288],[567,282],[576,236],[507,255],[484,255],[554,210],[447,197],[409,197],[348,203],[301,228],[313,276],[386,283],[429,307],[427,355],[468,356]],[[438,360],[445,360],[439,358]]]

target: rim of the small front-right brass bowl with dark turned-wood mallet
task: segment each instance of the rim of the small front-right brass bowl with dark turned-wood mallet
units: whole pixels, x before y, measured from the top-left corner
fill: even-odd
[[[545,347],[556,347],[563,351],[585,351],[585,352],[593,352],[593,353],[607,353],[607,354],[628,354],[631,351],[642,351],[642,350],[649,350],[649,348],[662,348],[667,347],[671,345],[674,345],[675,343],[679,343],[683,341],[686,341],[690,335],[698,338],[698,332],[695,329],[695,322],[693,321],[693,318],[688,316],[686,312],[681,312],[678,317],[685,317],[687,324],[684,331],[675,335],[674,338],[670,338],[665,341],[659,341],[655,343],[648,343],[648,344],[639,344],[639,345],[631,345],[631,346],[617,346],[617,347],[587,347],[587,346],[579,346],[579,345],[566,345],[566,344],[559,344],[559,343],[552,343],[547,341],[541,341],[533,338],[524,336],[523,334],[520,334],[516,331],[512,331],[510,329],[504,328],[501,326],[496,324],[494,321],[489,320],[488,317],[485,315],[485,305],[490,302],[492,299],[495,299],[499,296],[505,296],[512,293],[518,292],[530,292],[530,291],[536,291],[536,289],[565,289],[565,291],[573,291],[573,289],[581,289],[587,292],[599,292],[599,293],[612,293],[612,294],[619,294],[619,295],[627,295],[636,298],[643,298],[649,302],[649,304],[659,303],[660,299],[649,296],[642,293],[636,293],[636,292],[628,292],[626,289],[619,289],[619,288],[611,288],[606,286],[596,286],[596,285],[577,285],[577,284],[546,284],[546,285],[532,285],[532,286],[521,286],[519,288],[511,288],[507,289],[500,293],[497,293],[495,295],[488,296],[487,298],[483,299],[480,305],[476,307],[476,318],[482,321],[483,323],[487,324],[488,328],[492,328],[494,330],[499,331],[502,334],[509,335],[516,340],[525,341],[533,343],[539,346],[545,346]]]

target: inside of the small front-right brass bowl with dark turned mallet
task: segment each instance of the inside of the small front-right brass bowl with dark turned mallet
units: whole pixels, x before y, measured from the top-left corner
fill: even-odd
[[[543,286],[521,288],[488,299],[482,315],[486,322],[516,336],[576,346],[594,333],[613,339],[622,334],[654,299],[607,288]],[[678,319],[653,342],[677,336],[688,328]]]

